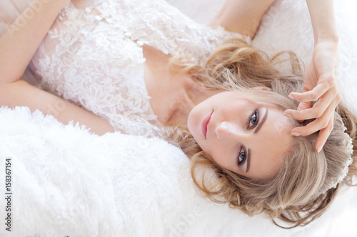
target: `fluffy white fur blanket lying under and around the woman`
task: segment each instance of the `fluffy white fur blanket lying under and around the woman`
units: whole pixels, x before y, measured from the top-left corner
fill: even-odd
[[[189,16],[195,9],[189,0],[170,2]],[[208,19],[204,14],[213,15],[221,4],[211,2],[208,6],[216,7],[196,12]],[[357,50],[340,5],[341,92],[343,103],[356,112]],[[253,41],[268,53],[294,51],[306,63],[312,43],[303,0],[276,2]],[[11,232],[4,225],[7,157]],[[84,127],[61,125],[41,112],[31,115],[26,107],[0,109],[0,187],[0,236],[356,236],[356,188],[342,192],[308,226],[283,230],[263,216],[248,217],[201,198],[188,159],[167,142],[119,133],[90,135]]]

